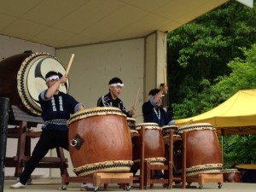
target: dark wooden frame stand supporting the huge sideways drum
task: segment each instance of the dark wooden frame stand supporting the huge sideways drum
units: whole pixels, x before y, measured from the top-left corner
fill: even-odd
[[[9,138],[18,138],[17,154],[15,157],[6,158],[6,167],[15,167],[15,177],[20,177],[23,167],[31,156],[31,139],[40,137],[41,132],[29,131],[31,127],[36,127],[43,123],[43,119],[38,116],[32,116],[26,111],[12,105],[9,114],[9,125],[15,125],[15,128],[8,129]],[[61,175],[67,173],[67,159],[64,156],[63,148],[56,148],[57,157],[44,157],[38,164],[40,168],[60,168]]]

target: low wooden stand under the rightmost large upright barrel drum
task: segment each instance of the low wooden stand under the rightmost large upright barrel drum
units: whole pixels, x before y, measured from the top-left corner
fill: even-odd
[[[202,189],[204,183],[218,183],[218,189],[221,189],[223,181],[223,173],[199,173],[195,177],[187,177],[188,185],[196,182],[199,184],[199,189]]]

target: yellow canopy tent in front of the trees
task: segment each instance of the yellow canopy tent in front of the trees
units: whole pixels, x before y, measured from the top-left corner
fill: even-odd
[[[194,123],[212,124],[219,135],[256,134],[256,89],[239,90],[206,113],[176,120],[179,127]]]

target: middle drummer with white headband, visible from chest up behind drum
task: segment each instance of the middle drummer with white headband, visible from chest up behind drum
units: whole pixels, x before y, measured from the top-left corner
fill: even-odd
[[[119,108],[123,113],[126,114],[127,117],[132,117],[132,115],[135,113],[135,107],[132,106],[130,111],[127,112],[123,102],[119,99],[119,95],[121,94],[122,88],[124,87],[122,80],[119,78],[110,79],[108,86],[108,94],[101,96],[98,99],[97,107]]]

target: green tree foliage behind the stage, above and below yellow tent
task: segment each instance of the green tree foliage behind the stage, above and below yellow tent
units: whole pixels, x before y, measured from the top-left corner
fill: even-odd
[[[168,34],[169,113],[204,113],[256,88],[256,8],[231,0]],[[225,136],[224,166],[256,163],[256,136]]]

